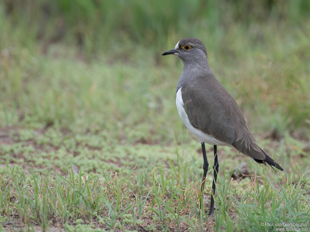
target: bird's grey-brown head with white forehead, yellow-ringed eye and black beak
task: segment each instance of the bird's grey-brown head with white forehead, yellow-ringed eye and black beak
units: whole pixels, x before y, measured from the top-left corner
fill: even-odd
[[[173,54],[179,57],[184,63],[197,62],[197,60],[207,60],[207,51],[205,45],[196,38],[181,39],[174,49],[164,52],[162,55]]]

